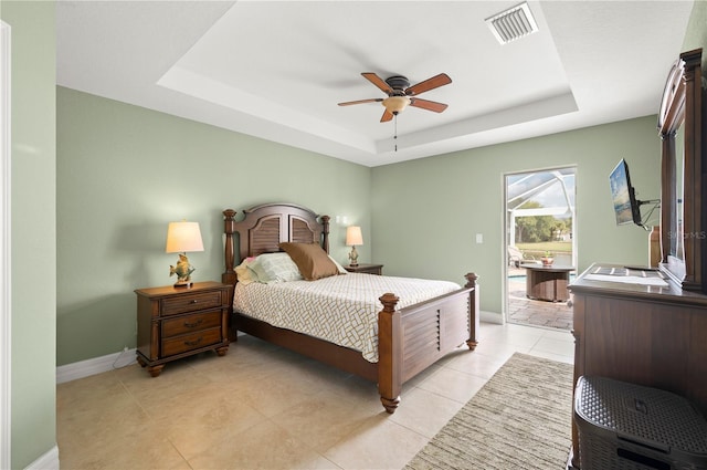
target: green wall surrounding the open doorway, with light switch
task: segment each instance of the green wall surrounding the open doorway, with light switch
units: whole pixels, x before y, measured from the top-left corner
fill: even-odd
[[[646,264],[647,232],[615,224],[609,174],[625,158],[639,199],[657,199],[659,150],[648,116],[373,168],[373,260],[393,275],[461,283],[475,272],[482,310],[500,314],[504,174],[574,166],[580,271],[594,261]]]

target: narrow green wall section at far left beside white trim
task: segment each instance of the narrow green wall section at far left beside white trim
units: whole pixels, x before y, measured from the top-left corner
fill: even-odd
[[[53,2],[3,1],[12,43],[11,464],[56,445]]]

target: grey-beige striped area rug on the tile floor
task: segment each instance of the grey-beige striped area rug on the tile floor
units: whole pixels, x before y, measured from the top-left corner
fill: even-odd
[[[571,417],[572,366],[516,353],[405,469],[559,470]]]

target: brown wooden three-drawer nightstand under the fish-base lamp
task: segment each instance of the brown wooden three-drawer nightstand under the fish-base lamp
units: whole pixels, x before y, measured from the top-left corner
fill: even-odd
[[[137,362],[152,377],[166,363],[214,349],[229,351],[229,293],[220,282],[196,282],[191,288],[171,285],[138,289]]]

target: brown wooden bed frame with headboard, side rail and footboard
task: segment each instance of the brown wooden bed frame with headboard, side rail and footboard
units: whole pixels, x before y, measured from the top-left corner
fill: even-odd
[[[244,288],[238,285],[236,244],[240,261],[264,253],[281,252],[281,243],[317,243],[324,252],[329,252],[328,216],[318,217],[305,207],[291,203],[261,205],[243,212],[244,216],[236,221],[235,210],[223,211],[225,270],[222,282],[233,286],[232,296],[236,289]],[[355,276],[373,274],[347,274],[337,278],[354,280]],[[238,307],[232,309],[231,340],[238,341],[238,332],[243,332],[377,383],[381,403],[386,411],[392,414],[400,404],[400,391],[405,382],[464,343],[472,351],[476,347],[477,276],[468,273],[465,278],[466,283],[462,288],[456,285],[453,291],[404,307],[398,307],[399,303],[404,302],[401,302],[395,293],[381,292],[379,301],[382,309],[376,315],[377,325],[373,328],[377,333],[377,337],[373,338],[377,358],[374,362],[370,355],[369,358],[363,357],[362,351],[358,348],[336,344],[286,326],[274,326],[267,321],[240,312]]]

